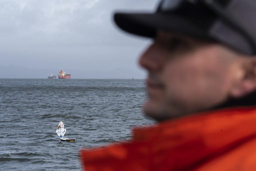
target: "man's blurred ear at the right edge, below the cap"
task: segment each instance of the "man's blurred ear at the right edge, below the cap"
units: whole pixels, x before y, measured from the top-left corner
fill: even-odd
[[[231,88],[233,98],[242,97],[256,90],[256,56],[242,60],[242,75]]]

